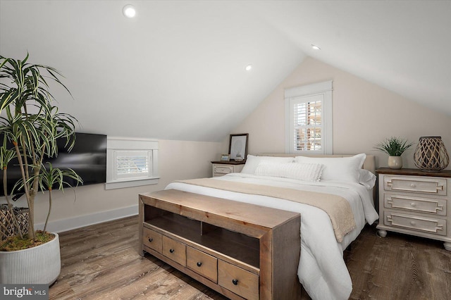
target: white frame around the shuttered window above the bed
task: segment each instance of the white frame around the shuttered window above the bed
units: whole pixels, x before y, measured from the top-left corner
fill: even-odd
[[[295,104],[307,103],[310,96],[322,96],[321,104],[321,151],[295,150],[294,114],[292,107]],[[285,89],[285,153],[290,154],[332,154],[332,80],[318,82],[301,87]]]

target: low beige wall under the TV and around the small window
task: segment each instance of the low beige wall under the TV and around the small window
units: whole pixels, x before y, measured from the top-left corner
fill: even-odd
[[[164,189],[173,180],[211,177],[211,161],[221,155],[221,143],[159,141],[158,185],[105,190],[104,184],[52,192],[53,204],[48,230],[61,232],[138,213],[138,194]],[[75,190],[75,193],[74,193]],[[16,206],[26,207],[25,197]],[[0,203],[6,202],[1,200]],[[35,201],[35,224],[45,222],[48,192]]]

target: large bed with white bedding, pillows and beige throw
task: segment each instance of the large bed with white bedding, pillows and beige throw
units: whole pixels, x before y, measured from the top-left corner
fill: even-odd
[[[299,282],[312,299],[348,299],[352,281],[343,260],[343,251],[357,238],[366,223],[371,225],[378,219],[373,204],[374,168],[374,156],[366,154],[314,157],[248,155],[241,173],[208,180],[171,182],[166,189],[301,213]],[[253,189],[243,188],[247,186]],[[302,203],[303,199],[297,201],[292,195],[283,199],[285,194],[280,193],[285,190],[299,191],[299,195],[311,194],[314,198],[307,204]],[[346,218],[345,215],[342,218],[342,214],[333,216],[334,211],[341,210],[337,206],[338,199],[344,201],[345,207],[349,206]]]

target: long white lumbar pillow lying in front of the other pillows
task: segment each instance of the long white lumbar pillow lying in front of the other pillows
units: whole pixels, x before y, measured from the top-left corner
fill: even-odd
[[[319,163],[273,163],[261,161],[255,175],[292,178],[304,181],[319,181],[323,165]]]

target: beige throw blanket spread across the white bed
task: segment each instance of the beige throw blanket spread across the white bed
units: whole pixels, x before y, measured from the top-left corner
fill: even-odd
[[[286,199],[302,204],[316,206],[329,215],[333,226],[333,231],[335,232],[335,237],[338,242],[342,242],[343,237],[356,227],[351,206],[346,199],[342,198],[342,196],[320,192],[299,191],[297,189],[288,189],[284,187],[214,180],[212,178],[179,180],[178,182],[189,185],[199,185],[202,187],[211,187],[214,189],[224,189],[226,191],[243,194],[271,196],[273,198]]]

